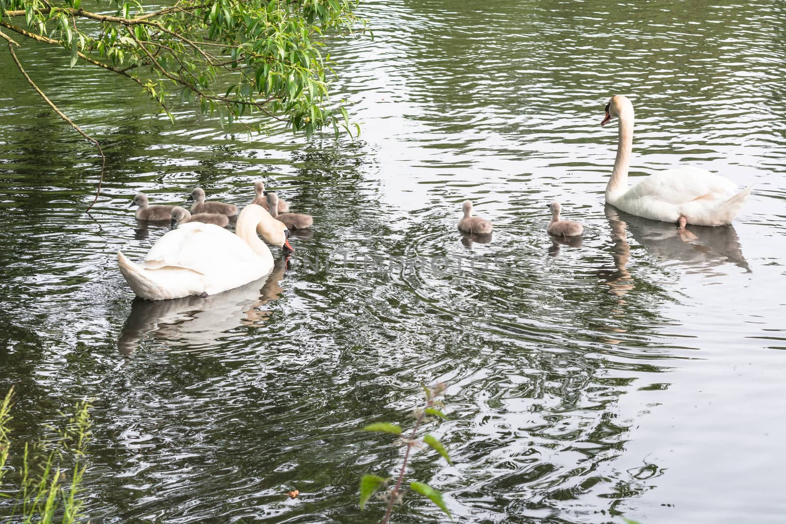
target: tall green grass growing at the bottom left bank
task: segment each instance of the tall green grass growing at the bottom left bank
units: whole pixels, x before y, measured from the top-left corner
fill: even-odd
[[[0,485],[9,472],[6,462],[12,447],[12,398],[13,389],[0,404]],[[9,482],[13,487],[0,493],[0,511],[8,508],[10,519],[16,517],[17,522],[27,524],[50,523],[57,518],[63,524],[72,524],[84,517],[83,502],[76,496],[85,473],[83,450],[90,439],[89,409],[86,401],[77,403],[54,441],[24,443],[17,478]],[[70,467],[65,466],[67,459]]]

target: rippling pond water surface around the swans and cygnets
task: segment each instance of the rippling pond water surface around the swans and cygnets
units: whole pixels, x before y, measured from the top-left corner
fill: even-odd
[[[15,434],[94,399],[93,522],[379,522],[358,479],[401,453],[357,430],[410,423],[441,380],[450,420],[428,431],[455,464],[418,453],[408,478],[459,522],[783,522],[786,5],[756,4],[367,2],[376,38],[332,50],[359,141],[248,138],[190,108],[173,126],[121,79],[28,45],[31,76],[105,144],[92,218],[94,150],[0,52]],[[689,163],[755,184],[733,227],[685,240],[604,207],[615,93],[637,110],[632,174]],[[134,300],[116,251],[141,258],[168,229],[134,220],[134,192],[243,205],[257,178],[315,217],[288,266]],[[490,243],[457,232],[466,198]],[[581,245],[545,234],[555,199]],[[424,521],[444,518],[419,497],[395,516]]]

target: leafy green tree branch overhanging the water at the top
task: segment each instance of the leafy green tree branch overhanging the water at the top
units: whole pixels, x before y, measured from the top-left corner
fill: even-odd
[[[59,47],[72,68],[85,64],[135,82],[173,120],[170,95],[219,115],[222,125],[238,120],[253,131],[279,121],[307,137],[323,126],[351,135],[347,109],[328,104],[329,74],[335,71],[323,51],[329,38],[367,31],[353,14],[356,3],[176,0],[163,7],[143,0],[109,0],[105,6],[95,0],[0,0],[0,38],[43,101],[97,146],[100,191],[101,145],[31,79],[15,51],[20,42]]]

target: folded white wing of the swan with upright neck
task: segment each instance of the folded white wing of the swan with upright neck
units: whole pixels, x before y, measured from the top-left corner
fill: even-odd
[[[709,171],[683,167],[651,174],[630,188],[625,200],[651,197],[670,204],[692,200],[726,200],[737,192],[736,185]]]

